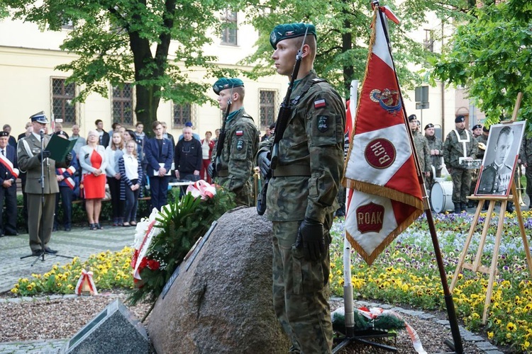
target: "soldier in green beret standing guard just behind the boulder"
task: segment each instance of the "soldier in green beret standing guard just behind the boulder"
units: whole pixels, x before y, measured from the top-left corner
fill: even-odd
[[[253,118],[245,113],[243,107],[244,83],[240,79],[222,78],[214,83],[213,90],[218,95],[218,104],[223,113],[226,112],[228,98],[231,98],[231,110],[226,117],[226,137],[216,166],[215,182],[235,193],[237,205],[249,207],[253,200],[251,178],[259,132]],[[216,148],[212,154],[213,160],[216,159]]]

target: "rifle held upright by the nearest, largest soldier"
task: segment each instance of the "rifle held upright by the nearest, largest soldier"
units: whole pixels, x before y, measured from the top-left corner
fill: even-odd
[[[297,79],[299,67],[301,66],[301,61],[303,60],[303,46],[305,45],[306,33],[308,31],[309,27],[307,26],[305,29],[305,35],[303,37],[303,42],[301,43],[301,48],[299,48],[296,54],[296,64],[294,65],[294,71],[292,71],[292,77],[290,78],[290,84],[288,85],[287,95],[284,96],[284,100],[279,108],[279,113],[277,114],[272,149],[270,149],[270,152],[268,153],[268,157],[270,158],[270,171],[268,171],[267,175],[265,176],[264,185],[262,185],[260,195],[257,197],[258,215],[263,215],[266,212],[266,194],[268,190],[268,184],[270,183],[270,178],[272,178],[272,170],[275,170],[277,164],[279,164],[279,141],[282,139],[284,130],[287,129],[288,120],[292,116],[292,103],[290,102],[290,96],[292,96],[294,82]]]

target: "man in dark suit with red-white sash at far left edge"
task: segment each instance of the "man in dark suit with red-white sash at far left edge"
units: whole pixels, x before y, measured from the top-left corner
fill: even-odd
[[[0,236],[16,236],[16,150],[9,144],[9,132],[0,132]],[[4,219],[6,205],[6,224]]]

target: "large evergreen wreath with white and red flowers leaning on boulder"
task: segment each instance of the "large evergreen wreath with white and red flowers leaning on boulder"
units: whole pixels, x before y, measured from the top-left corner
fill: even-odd
[[[235,207],[234,194],[206,181],[189,185],[177,202],[153,208],[135,229],[131,268],[135,288],[132,304],[141,299],[155,302],[177,265],[205,234],[212,222]]]

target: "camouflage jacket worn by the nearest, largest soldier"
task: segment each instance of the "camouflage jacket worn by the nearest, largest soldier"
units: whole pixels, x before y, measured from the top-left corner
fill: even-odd
[[[267,190],[267,217],[272,221],[297,221],[305,217],[324,222],[338,209],[336,195],[343,176],[345,107],[326,82],[311,72],[297,82],[292,100],[301,96],[292,110],[287,129],[279,142],[279,166]],[[273,139],[261,144],[267,151]],[[309,176],[275,176],[282,166],[301,165]]]

